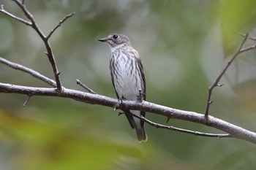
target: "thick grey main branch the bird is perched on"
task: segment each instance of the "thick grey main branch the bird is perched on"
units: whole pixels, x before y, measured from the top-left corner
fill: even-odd
[[[243,139],[256,144],[256,133],[248,131],[237,125],[227,123],[213,116],[208,116],[208,120],[203,114],[196,112],[188,112],[180,109],[164,107],[159,104],[153,104],[148,101],[123,101],[122,104],[117,99],[101,96],[98,94],[84,93],[78,90],[63,88],[61,93],[58,93],[55,88],[33,88],[20,85],[10,85],[0,83],[0,93],[20,93],[27,96],[56,96],[62,98],[72,98],[76,101],[81,101],[88,104],[99,104],[106,107],[117,107],[118,109],[135,109],[145,112],[151,112],[157,115],[170,117],[173,119],[187,120],[194,123],[208,125],[225,131],[230,136],[237,139]]]

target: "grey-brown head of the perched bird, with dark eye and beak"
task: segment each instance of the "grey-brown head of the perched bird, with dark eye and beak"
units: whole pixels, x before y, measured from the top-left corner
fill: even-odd
[[[130,45],[129,39],[124,34],[110,34],[109,36],[98,39],[99,42],[107,43],[110,48],[117,47],[118,45]]]

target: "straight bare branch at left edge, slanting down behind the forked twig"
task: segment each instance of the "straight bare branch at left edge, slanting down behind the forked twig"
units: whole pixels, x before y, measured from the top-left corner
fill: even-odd
[[[17,69],[22,72],[29,73],[29,74],[31,74],[31,76],[36,77],[37,79],[42,80],[42,82],[46,82],[48,85],[56,88],[56,82],[49,79],[48,77],[45,77],[44,75],[40,74],[39,72],[34,71],[33,69],[29,69],[28,67],[22,66],[18,63],[13,63],[11,61],[7,61],[7,59],[1,58],[1,57],[0,57],[0,63],[4,63],[5,65],[10,66],[12,69]]]

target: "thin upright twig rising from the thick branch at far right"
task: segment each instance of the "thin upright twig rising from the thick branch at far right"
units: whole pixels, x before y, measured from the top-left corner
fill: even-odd
[[[225,72],[227,71],[227,69],[229,68],[229,66],[231,65],[231,63],[236,59],[236,57],[243,53],[246,50],[241,51],[242,47],[244,46],[244,43],[246,42],[246,39],[248,37],[248,33],[246,34],[246,36],[244,36],[244,39],[241,42],[241,45],[238,47],[238,50],[236,51],[235,55],[233,55],[233,58],[230,59],[230,61],[227,62],[227,65],[225,66],[225,68],[222,70],[222,72],[219,74],[219,76],[217,77],[217,79],[214,81],[214,83],[208,88],[208,96],[207,96],[207,101],[206,101],[206,111],[205,111],[205,118],[206,120],[208,119],[208,113],[209,113],[209,109],[210,109],[210,105],[212,104],[212,100],[211,100],[211,93],[212,90],[214,90],[214,88],[216,87],[220,87],[222,85],[219,85],[219,80],[222,78],[222,76],[225,74]],[[252,50],[252,49],[249,49]]]

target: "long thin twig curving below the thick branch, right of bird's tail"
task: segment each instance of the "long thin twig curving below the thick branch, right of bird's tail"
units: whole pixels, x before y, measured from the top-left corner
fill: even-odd
[[[142,115],[138,116],[138,115],[133,114],[132,112],[129,112],[129,114],[131,114],[134,117],[138,117],[140,120],[143,120],[144,122],[148,123],[149,125],[154,126],[155,128],[164,128],[164,129],[167,129],[167,130],[170,130],[170,131],[179,131],[179,132],[182,132],[182,133],[185,133],[185,134],[193,134],[195,136],[216,137],[218,139],[219,138],[227,138],[227,137],[230,138],[230,137],[232,137],[230,134],[209,134],[209,133],[203,133],[203,132],[200,132],[200,131],[191,131],[191,130],[187,130],[187,129],[184,129],[184,128],[176,128],[176,127],[173,127],[173,126],[170,126],[170,125],[162,125],[162,124],[159,124],[159,123],[154,123],[151,120],[146,119],[146,117],[143,117]]]

